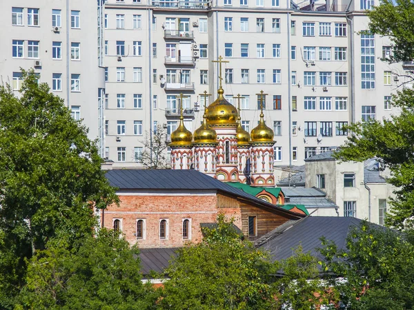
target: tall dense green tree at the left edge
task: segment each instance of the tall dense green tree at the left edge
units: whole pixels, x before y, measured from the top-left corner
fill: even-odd
[[[93,207],[116,203],[86,127],[33,72],[19,96],[0,86],[0,307],[12,308],[26,260],[59,237],[69,247],[93,233]]]

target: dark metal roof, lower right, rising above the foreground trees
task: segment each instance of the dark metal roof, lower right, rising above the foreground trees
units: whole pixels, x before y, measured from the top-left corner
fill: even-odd
[[[358,226],[358,218],[336,216],[308,216],[302,220],[290,220],[256,240],[255,245],[270,251],[273,260],[284,260],[302,245],[303,252],[322,258],[317,248],[322,247],[320,238],[332,240],[338,249],[344,249],[346,236],[351,227]]]

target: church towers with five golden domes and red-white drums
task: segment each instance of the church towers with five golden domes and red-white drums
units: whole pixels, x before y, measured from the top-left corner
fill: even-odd
[[[217,99],[204,107],[204,121],[191,133],[180,123],[171,134],[172,169],[195,169],[223,182],[239,182],[251,186],[275,187],[273,176],[273,130],[264,121],[264,99],[260,98],[261,113],[257,127],[246,132],[241,125],[240,108],[224,98],[219,57],[219,89]],[[206,99],[207,92],[201,94]],[[181,101],[183,95],[181,94]],[[235,97],[242,99],[240,95]],[[206,100],[204,100],[206,102]]]

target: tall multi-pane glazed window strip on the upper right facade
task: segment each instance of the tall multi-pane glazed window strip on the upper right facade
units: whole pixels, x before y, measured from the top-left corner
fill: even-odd
[[[375,41],[374,35],[361,34],[361,87],[375,88]]]

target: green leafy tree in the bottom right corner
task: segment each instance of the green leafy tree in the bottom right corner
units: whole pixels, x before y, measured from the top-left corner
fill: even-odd
[[[413,309],[414,246],[401,234],[362,223],[348,235],[346,249],[323,244],[323,269],[335,275],[331,285],[346,309]]]

